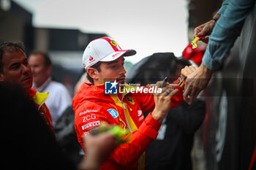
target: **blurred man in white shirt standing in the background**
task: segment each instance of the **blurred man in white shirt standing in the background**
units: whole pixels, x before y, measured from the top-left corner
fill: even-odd
[[[50,115],[53,118],[53,125],[58,118],[71,105],[71,97],[67,88],[59,82],[53,81],[50,77],[51,61],[48,53],[32,51],[29,54],[29,65],[33,73],[33,86],[39,92],[49,92],[45,103]]]

